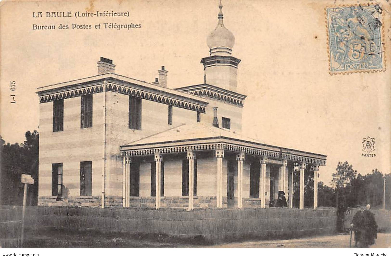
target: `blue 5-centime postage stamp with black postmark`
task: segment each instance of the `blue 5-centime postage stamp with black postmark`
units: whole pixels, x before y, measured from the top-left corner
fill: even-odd
[[[378,4],[328,7],[326,15],[331,75],[386,70]]]

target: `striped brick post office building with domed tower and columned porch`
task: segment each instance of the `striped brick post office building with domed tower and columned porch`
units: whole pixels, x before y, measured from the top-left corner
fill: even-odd
[[[240,59],[219,8],[203,84],[170,89],[164,66],[147,83],[100,58],[98,75],[38,88],[39,205],[265,208],[283,191],[292,207],[297,174],[303,208],[310,172],[317,207],[325,155],[241,135]]]

